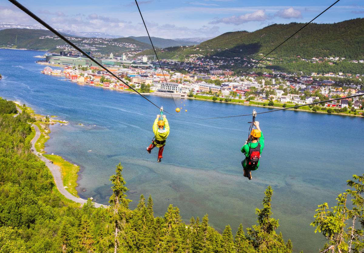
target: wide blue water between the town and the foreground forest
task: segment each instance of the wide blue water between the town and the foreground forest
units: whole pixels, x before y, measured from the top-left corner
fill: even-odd
[[[194,110],[201,101],[181,99],[176,103],[183,110],[177,116],[167,114],[171,133],[159,164],[157,150],[152,154],[145,150],[153,138],[151,127],[158,108],[135,94],[40,74],[44,66],[33,58],[40,54],[0,49],[4,77],[0,96],[28,104],[36,113],[70,121],[68,126],[51,127],[46,151],[81,166],[80,197],[107,203],[109,177],[121,162],[131,207],[137,205],[140,194],[151,194],[159,216],[172,203],[185,221],[208,213],[214,228],[221,231],[230,224],[236,231],[240,223],[244,228],[254,224],[255,208],[261,208],[264,189],[272,185],[278,231],[293,241],[295,251],[317,252],[324,238],[309,226],[314,210],[323,202],[334,204],[347,189],[345,181],[364,171],[364,117],[287,110],[257,117],[266,146],[261,166],[249,181],[242,176],[240,148],[251,118],[198,118],[247,114],[254,107],[206,102]],[[149,99],[174,112],[172,99]]]

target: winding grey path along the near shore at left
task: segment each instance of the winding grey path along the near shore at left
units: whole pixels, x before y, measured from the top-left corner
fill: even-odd
[[[21,113],[21,109],[20,108],[17,108],[17,109],[18,109],[19,112],[17,114],[15,114],[14,117],[16,117],[17,115],[19,115],[19,113]],[[76,197],[76,196],[72,195],[71,193],[69,193],[64,188],[60,167],[58,165],[50,163],[47,158],[43,157],[43,155],[41,153],[36,151],[35,143],[37,142],[37,140],[40,137],[40,130],[35,124],[32,124],[32,126],[35,129],[35,136],[33,137],[32,141],[31,141],[31,143],[32,143],[32,152],[35,155],[37,155],[37,157],[39,157],[44,163],[46,163],[46,166],[48,167],[48,169],[51,171],[51,173],[53,175],[54,181],[56,183],[56,187],[59,190],[59,192],[64,197],[66,197],[66,198],[68,198],[68,199],[70,199],[70,200],[72,200],[72,201],[74,201],[76,203],[80,203],[80,204],[86,203],[87,202],[86,199]],[[105,205],[102,205],[102,204],[99,204],[99,203],[95,203],[95,202],[92,202],[92,203],[94,203],[95,207],[101,207],[101,206],[105,207]]]

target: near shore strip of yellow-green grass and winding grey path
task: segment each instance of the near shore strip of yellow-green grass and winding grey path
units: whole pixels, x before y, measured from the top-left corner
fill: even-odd
[[[17,101],[13,101],[16,104],[18,113],[14,115],[16,117],[19,113],[21,113],[22,109],[20,109],[21,104]],[[51,133],[49,129],[49,125],[57,124],[57,123],[65,123],[67,121],[63,120],[55,120],[56,116],[50,117],[50,122],[43,122],[40,119],[45,118],[43,115],[35,114],[32,108],[25,107],[25,111],[28,112],[32,117],[36,118],[37,121],[34,123],[29,123],[32,125],[32,131],[34,133],[34,137],[31,139],[32,152],[37,155],[37,157],[43,161],[48,169],[51,171],[52,176],[54,178],[55,186],[58,189],[59,193],[62,194],[68,200],[71,200],[75,203],[80,203],[83,205],[87,202],[87,199],[82,199],[78,196],[78,192],[76,187],[78,186],[78,172],[80,166],[72,164],[68,162],[66,159],[60,157],[55,154],[46,154],[44,151],[44,144],[50,138],[49,134]],[[44,124],[46,125],[44,125]],[[66,123],[68,124],[68,122]],[[53,161],[50,163],[49,161]],[[102,207],[104,205],[94,203],[95,207]]]

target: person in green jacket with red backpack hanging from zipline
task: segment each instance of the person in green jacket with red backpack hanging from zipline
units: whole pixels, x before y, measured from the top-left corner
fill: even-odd
[[[260,161],[258,161],[256,164],[252,164],[252,162],[250,161],[250,149],[256,149],[258,148],[258,145],[260,145],[260,154],[262,153],[263,149],[264,149],[264,136],[262,131],[260,130],[259,127],[259,122],[255,121],[254,122],[254,126],[256,126],[257,129],[253,129],[252,132],[250,133],[250,142],[249,139],[248,141],[245,142],[245,145],[241,147],[241,152],[245,154],[245,159],[243,161],[241,161],[241,165],[244,168],[244,177],[247,177],[250,179],[252,179],[252,170],[257,170],[259,165],[260,165]]]

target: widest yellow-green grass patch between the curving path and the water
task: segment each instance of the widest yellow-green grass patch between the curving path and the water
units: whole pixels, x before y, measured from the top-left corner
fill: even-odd
[[[77,173],[80,170],[79,166],[75,166],[72,163],[64,160],[59,155],[43,155],[45,158],[52,160],[55,165],[61,168],[61,175],[63,179],[63,186],[67,186],[66,190],[72,195],[79,197],[76,191],[77,186]]]

